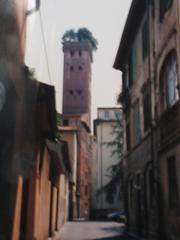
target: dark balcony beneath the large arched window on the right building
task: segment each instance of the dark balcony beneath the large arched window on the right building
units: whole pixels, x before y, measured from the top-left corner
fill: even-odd
[[[170,144],[180,136],[180,101],[161,116],[159,131],[160,147]]]

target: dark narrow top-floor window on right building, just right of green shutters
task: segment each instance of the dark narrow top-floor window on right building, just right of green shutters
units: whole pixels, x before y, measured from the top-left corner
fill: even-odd
[[[142,57],[143,60],[147,57],[149,53],[149,24],[146,19],[142,29]]]

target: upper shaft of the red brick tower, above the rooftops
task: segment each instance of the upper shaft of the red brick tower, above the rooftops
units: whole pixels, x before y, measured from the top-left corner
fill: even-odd
[[[86,115],[90,127],[92,48],[88,42],[65,42],[63,118]]]

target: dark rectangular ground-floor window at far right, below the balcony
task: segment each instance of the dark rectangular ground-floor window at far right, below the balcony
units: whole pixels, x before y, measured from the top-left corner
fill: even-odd
[[[169,207],[178,207],[178,186],[176,176],[176,159],[175,156],[168,158],[167,160],[168,171],[168,199]]]

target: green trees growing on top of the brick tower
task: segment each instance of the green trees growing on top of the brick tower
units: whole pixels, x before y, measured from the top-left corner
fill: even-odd
[[[79,28],[77,32],[70,29],[62,36],[64,42],[89,42],[93,50],[97,50],[98,41],[94,38],[92,33],[87,28]]]

